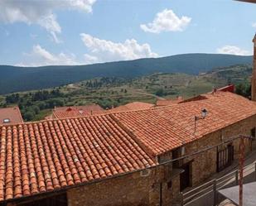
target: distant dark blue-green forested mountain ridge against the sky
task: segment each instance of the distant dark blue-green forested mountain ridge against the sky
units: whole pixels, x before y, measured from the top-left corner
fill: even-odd
[[[186,54],[94,65],[44,67],[0,65],[0,93],[46,89],[95,77],[130,79],[157,72],[200,74],[216,67],[251,63],[252,56]]]

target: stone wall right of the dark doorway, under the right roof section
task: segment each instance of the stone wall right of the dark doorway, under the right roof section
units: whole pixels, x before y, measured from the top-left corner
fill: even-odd
[[[199,151],[206,146],[215,146],[221,141],[225,141],[230,137],[234,137],[239,134],[250,136],[251,129],[256,127],[256,116],[249,117],[241,122],[235,123],[228,127],[225,127],[219,131],[210,133],[198,141],[193,141],[186,146],[186,154]],[[245,139],[245,152],[248,155],[251,151],[251,140]],[[228,143],[227,143],[228,144]],[[227,145],[226,144],[226,145]],[[234,145],[234,159],[239,158],[239,139],[233,141]],[[206,151],[199,155],[187,158],[185,162],[193,160],[192,162],[192,185],[199,184],[203,180],[216,173],[217,170],[217,149]]]

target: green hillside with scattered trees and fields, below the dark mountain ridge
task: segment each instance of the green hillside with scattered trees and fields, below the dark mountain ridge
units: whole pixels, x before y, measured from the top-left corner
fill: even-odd
[[[56,89],[12,93],[0,96],[0,108],[19,105],[25,120],[39,120],[55,106],[85,105],[99,103],[111,108],[124,103],[142,101],[155,103],[158,98],[190,98],[210,92],[229,83],[240,86],[241,94],[247,93],[250,65],[234,65],[213,69],[199,75],[181,73],[155,73],[137,78],[125,79],[103,77],[87,79]],[[244,87],[244,88],[243,88]]]

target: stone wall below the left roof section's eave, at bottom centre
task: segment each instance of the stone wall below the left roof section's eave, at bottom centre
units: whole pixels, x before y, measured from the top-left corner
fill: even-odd
[[[160,205],[162,168],[124,175],[67,191],[69,206],[146,206]]]

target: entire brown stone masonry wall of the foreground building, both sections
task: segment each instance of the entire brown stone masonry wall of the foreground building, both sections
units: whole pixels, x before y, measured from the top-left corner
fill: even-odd
[[[221,138],[225,140],[238,134],[250,135],[250,130],[253,127],[256,127],[256,115],[187,144],[186,155],[200,151],[206,146],[219,144]],[[244,142],[248,154],[251,149],[251,141],[245,140]],[[239,140],[234,141],[233,145],[234,158],[238,158]],[[183,160],[183,163],[191,161],[192,186],[216,173],[216,157],[217,149],[215,148]],[[160,156],[159,160],[171,160],[171,151]],[[162,206],[173,205],[174,200],[180,195],[180,176],[176,175],[172,178],[170,189],[167,186],[169,180],[166,178],[168,171],[167,167],[161,167],[152,169],[147,177],[142,177],[137,172],[70,189],[67,192],[69,206],[158,206],[160,205],[160,183],[162,183]]]

